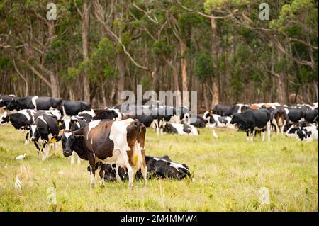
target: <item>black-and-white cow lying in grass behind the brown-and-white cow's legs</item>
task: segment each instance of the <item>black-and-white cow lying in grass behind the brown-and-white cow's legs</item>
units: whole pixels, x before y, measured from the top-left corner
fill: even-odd
[[[179,164],[169,159],[168,155],[162,157],[146,156],[145,162],[147,164],[147,178],[169,178],[169,179],[185,179],[190,178],[189,167],[186,164]],[[89,171],[89,167],[88,167]],[[104,181],[116,181],[117,175],[121,180],[128,179],[128,174],[122,167],[116,169],[116,165],[107,164],[104,174]],[[135,175],[135,179],[140,179],[142,174],[138,171]]]

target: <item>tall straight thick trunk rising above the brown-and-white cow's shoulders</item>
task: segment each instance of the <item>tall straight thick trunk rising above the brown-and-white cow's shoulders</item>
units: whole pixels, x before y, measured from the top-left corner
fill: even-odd
[[[89,60],[89,42],[88,42],[88,33],[89,33],[89,21],[90,21],[90,9],[91,6],[88,3],[88,0],[84,0],[82,4],[82,51],[83,51],[83,60]],[[90,102],[90,84],[87,75],[87,70],[84,69],[84,74],[82,75],[82,84],[83,84],[83,98],[84,101]]]

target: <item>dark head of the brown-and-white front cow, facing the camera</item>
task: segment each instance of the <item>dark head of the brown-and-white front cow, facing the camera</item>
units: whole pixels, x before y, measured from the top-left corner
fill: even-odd
[[[62,142],[62,150],[63,150],[63,155],[65,157],[69,157],[72,155],[72,145],[74,142],[84,140],[83,135],[74,135],[74,133],[71,130],[65,130],[63,132],[63,135],[61,136],[54,136],[52,138],[54,141],[60,141]]]

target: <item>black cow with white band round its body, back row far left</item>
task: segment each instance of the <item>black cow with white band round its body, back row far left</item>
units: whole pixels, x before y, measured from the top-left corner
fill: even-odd
[[[62,105],[62,98],[52,98],[47,96],[27,96],[23,98],[13,98],[7,108],[10,111],[22,109],[50,110],[59,109]]]

